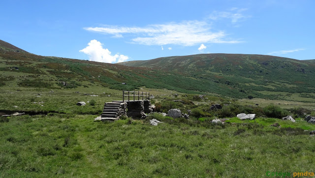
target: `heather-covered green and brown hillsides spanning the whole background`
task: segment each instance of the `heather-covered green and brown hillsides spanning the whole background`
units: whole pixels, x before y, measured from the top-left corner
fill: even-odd
[[[6,42],[1,42],[1,49],[0,87],[138,90],[145,86],[230,98],[315,99],[315,64],[288,58],[201,54],[121,63],[129,67],[38,56]]]

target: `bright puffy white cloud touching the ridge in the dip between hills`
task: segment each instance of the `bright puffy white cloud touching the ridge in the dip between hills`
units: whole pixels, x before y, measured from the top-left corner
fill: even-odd
[[[116,63],[116,62],[125,62],[129,59],[128,56],[119,55],[119,53],[114,56],[111,55],[111,52],[108,49],[104,49],[102,44],[96,39],[91,40],[88,43],[88,46],[80,52],[83,52],[89,55],[90,61],[103,62],[103,63]]]

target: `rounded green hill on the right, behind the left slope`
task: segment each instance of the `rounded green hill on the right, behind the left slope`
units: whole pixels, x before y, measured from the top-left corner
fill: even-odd
[[[314,60],[267,55],[198,54],[120,63],[125,66],[176,72],[194,78],[195,90],[242,98],[286,99],[293,93],[315,97]],[[189,83],[186,84],[189,86]],[[268,92],[266,92],[268,91]],[[279,93],[284,92],[284,93]]]

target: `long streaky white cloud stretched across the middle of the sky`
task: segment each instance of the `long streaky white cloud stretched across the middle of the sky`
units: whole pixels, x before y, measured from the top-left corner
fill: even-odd
[[[131,42],[144,45],[177,44],[193,46],[200,43],[239,43],[239,40],[226,40],[223,31],[212,32],[205,21],[185,21],[182,23],[155,24],[146,27],[87,27],[90,32],[122,37],[122,34],[137,35]]]

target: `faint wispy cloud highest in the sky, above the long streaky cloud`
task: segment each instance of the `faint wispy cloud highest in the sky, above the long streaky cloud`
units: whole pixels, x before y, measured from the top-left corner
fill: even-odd
[[[232,23],[236,23],[239,21],[244,21],[245,19],[251,17],[251,16],[245,16],[242,14],[242,12],[246,11],[247,8],[231,8],[228,11],[225,12],[218,12],[218,11],[214,11],[210,16],[209,19],[212,20],[220,20],[223,18],[228,18],[231,19]]]

